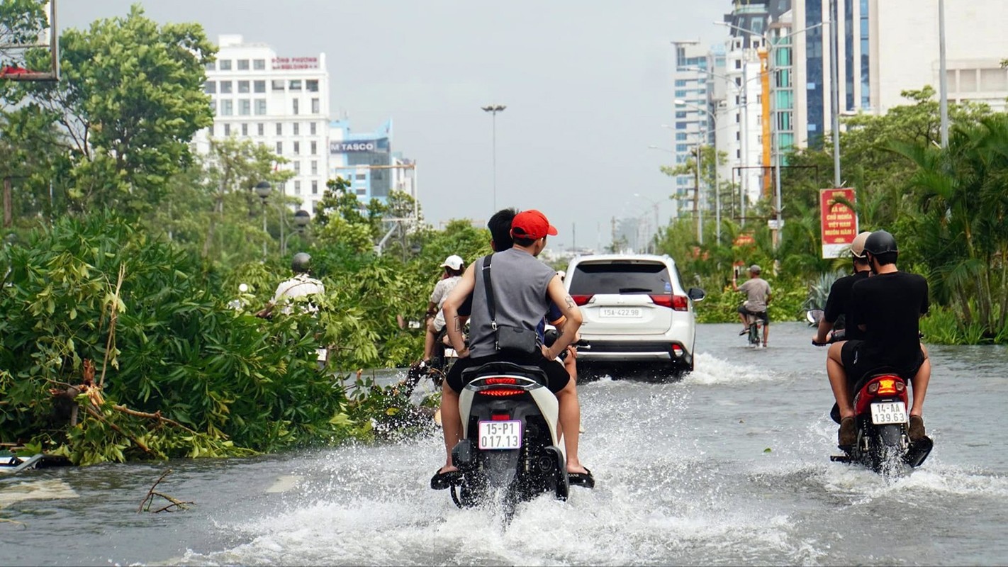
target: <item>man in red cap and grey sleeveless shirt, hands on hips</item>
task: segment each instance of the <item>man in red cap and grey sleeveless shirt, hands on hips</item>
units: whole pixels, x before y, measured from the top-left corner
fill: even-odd
[[[556,228],[546,217],[535,209],[523,210],[511,223],[511,237],[514,246],[497,252],[490,257],[491,282],[493,284],[495,317],[492,320],[487,303],[484,283],[486,258],[473,263],[474,278],[463,277],[445,300],[443,309],[448,321],[448,335],[459,353],[459,361],[452,367],[445,379],[442,396],[442,427],[445,432],[445,450],[448,455],[445,466],[430,479],[430,487],[447,488],[458,476],[458,468],[452,462],[452,448],[461,440],[462,418],[459,414],[459,393],[462,391],[462,372],[467,368],[486,363],[507,360],[521,365],[538,366],[548,379],[548,388],[556,396],[559,405],[559,422],[563,431],[566,449],[566,468],[572,484],[594,487],[592,472],[581,464],[578,458],[579,427],[581,407],[578,403],[576,383],[563,366],[554,361],[568,345],[577,339],[581,327],[581,310],[563,288],[556,272],[536,259],[546,247],[546,237],[555,236]],[[468,275],[468,273],[467,273]],[[469,318],[470,345],[467,347],[462,335],[459,307],[472,294],[473,305]],[[536,325],[546,312],[549,301],[559,308],[566,318],[562,332],[548,348],[539,344],[539,351],[528,355],[503,353],[497,350],[494,326],[522,327],[535,332]]]

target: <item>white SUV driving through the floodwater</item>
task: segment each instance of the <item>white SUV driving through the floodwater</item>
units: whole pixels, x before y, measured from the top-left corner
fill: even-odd
[[[703,289],[682,287],[675,262],[649,254],[575,258],[564,285],[581,306],[583,338],[591,346],[579,364],[621,369],[658,366],[662,375],[694,369],[697,316]]]

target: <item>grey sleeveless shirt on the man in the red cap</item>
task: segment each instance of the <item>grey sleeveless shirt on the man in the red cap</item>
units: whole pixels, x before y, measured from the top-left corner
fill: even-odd
[[[476,286],[473,288],[473,311],[469,318],[469,342],[473,358],[497,352],[490,325],[486,284],[483,283],[485,258],[476,261]],[[546,288],[556,272],[534,256],[517,248],[493,255],[490,281],[498,325],[525,327],[535,332],[549,305]]]

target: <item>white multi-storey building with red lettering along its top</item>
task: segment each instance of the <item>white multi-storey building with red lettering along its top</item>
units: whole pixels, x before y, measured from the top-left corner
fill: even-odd
[[[234,34],[219,36],[218,46],[205,84],[214,125],[197,134],[197,151],[207,153],[211,138],[228,136],[272,149],[289,160],[279,167],[294,172],[274,190],[300,198],[300,207],[313,212],[330,170],[326,53],[280,56]]]

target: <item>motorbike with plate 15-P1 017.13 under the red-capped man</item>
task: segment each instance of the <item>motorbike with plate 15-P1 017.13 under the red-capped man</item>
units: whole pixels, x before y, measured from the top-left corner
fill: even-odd
[[[547,333],[546,344],[554,336]],[[582,342],[579,347],[588,347]],[[496,362],[467,369],[459,395],[462,440],[452,449],[459,476],[452,500],[470,508],[501,494],[505,515],[542,493],[568,499],[556,397],[534,366]]]

